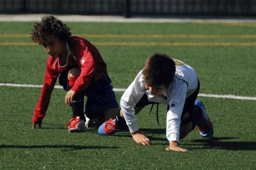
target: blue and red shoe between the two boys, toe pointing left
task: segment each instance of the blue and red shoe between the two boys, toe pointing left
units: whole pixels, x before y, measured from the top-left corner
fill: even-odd
[[[115,129],[116,119],[105,121],[98,128],[98,134],[100,135],[113,135],[118,129]]]

